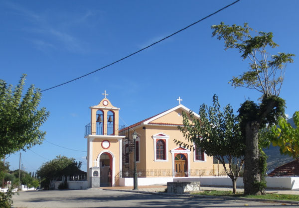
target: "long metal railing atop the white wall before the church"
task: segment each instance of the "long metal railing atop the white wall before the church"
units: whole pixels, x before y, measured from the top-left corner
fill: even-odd
[[[213,169],[191,169],[189,171],[176,172],[171,169],[138,169],[137,175],[139,178],[146,177],[201,177],[201,176],[227,176],[225,170],[213,170]],[[117,174],[119,178],[132,178],[134,176],[134,170],[122,170]]]

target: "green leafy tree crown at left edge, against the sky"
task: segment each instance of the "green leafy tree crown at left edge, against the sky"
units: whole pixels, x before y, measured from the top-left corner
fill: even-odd
[[[39,127],[49,112],[38,109],[41,93],[34,85],[23,95],[25,77],[22,75],[14,90],[0,80],[0,157],[41,144],[46,134]]]

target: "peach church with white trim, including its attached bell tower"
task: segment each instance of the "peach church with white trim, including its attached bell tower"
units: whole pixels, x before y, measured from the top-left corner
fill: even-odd
[[[85,126],[89,187],[132,186],[135,162],[139,185],[226,175],[200,147],[189,143],[190,150],[175,143],[188,143],[177,128],[182,126],[182,111],[190,111],[180,98],[175,107],[125,127],[119,125],[120,108],[106,98],[106,91],[103,95],[99,104],[90,107],[91,121]]]

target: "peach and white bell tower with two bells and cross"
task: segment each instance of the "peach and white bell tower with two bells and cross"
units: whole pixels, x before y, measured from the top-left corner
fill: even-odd
[[[90,187],[115,186],[116,174],[122,169],[122,139],[119,130],[119,110],[107,99],[108,94],[103,93],[104,99],[91,106],[90,123],[85,126],[87,138],[87,176]],[[99,176],[93,174],[100,170]],[[98,183],[100,178],[100,183]],[[108,180],[107,180],[108,179]]]

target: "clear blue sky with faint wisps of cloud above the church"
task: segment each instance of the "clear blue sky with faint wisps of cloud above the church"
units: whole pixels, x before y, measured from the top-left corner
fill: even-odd
[[[26,87],[41,90],[99,69],[213,13],[233,0],[0,0],[0,79],[16,85],[27,74]],[[51,115],[42,126],[46,141],[86,151],[84,126],[89,106],[102,93],[121,108],[121,124],[133,124],[182,103],[195,112],[219,96],[222,106],[235,110],[245,99],[261,95],[228,84],[248,69],[236,50],[224,50],[223,40],[211,37],[211,25],[243,24],[272,31],[277,52],[294,53],[287,66],[281,97],[286,113],[299,110],[298,0],[241,0],[231,7],[111,67],[75,82],[45,91],[40,106]],[[28,172],[56,155],[83,162],[86,153],[44,142],[22,152]],[[7,159],[18,169],[18,152]]]

